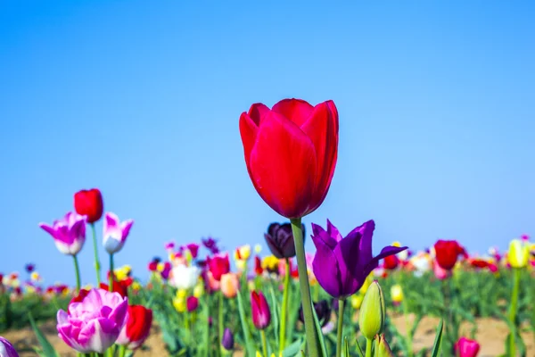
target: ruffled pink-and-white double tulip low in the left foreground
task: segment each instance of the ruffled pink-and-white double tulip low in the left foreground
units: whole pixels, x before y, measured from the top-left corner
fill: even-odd
[[[58,311],[58,335],[79,353],[104,353],[128,320],[128,299],[119,293],[91,289],[69,312]]]

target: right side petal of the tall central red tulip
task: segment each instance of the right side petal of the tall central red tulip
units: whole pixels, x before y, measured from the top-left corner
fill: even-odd
[[[338,156],[338,111],[333,101],[317,104],[301,127],[312,140],[317,155],[317,180],[312,202],[316,209],[325,199]]]

